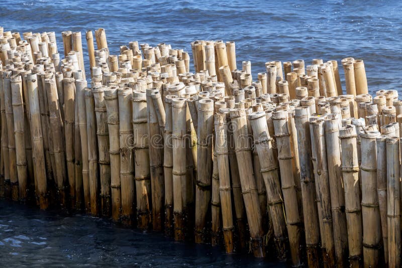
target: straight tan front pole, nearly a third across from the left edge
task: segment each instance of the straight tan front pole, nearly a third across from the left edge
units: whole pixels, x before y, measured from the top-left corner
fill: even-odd
[[[131,225],[135,221],[132,89],[129,87],[119,88],[117,95],[119,99],[121,221],[126,225]]]

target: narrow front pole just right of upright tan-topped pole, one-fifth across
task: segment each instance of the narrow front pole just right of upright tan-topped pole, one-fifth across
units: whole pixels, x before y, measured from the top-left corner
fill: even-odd
[[[79,138],[81,142],[81,161],[82,161],[82,185],[84,207],[86,212],[90,212],[90,190],[89,190],[89,155],[88,155],[88,132],[86,126],[86,109],[85,109],[85,80],[75,80],[75,105],[79,118]],[[77,116],[75,114],[75,116]],[[75,135],[77,137],[77,135]],[[77,137],[78,138],[78,137]],[[76,148],[78,149],[78,148]]]

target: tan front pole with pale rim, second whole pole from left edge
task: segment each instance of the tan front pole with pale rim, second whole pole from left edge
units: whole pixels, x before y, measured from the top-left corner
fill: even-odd
[[[11,95],[14,114],[16,160],[20,200],[25,202],[28,187],[28,166],[25,152],[25,126],[21,75],[11,77]]]

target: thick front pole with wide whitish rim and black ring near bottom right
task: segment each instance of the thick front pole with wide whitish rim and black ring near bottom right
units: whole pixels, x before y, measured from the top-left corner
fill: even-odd
[[[363,261],[365,267],[379,264],[381,242],[381,220],[377,196],[376,138],[378,131],[360,131],[361,181],[363,220]]]

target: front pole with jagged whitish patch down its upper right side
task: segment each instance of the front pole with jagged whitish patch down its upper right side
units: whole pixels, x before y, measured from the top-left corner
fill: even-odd
[[[345,189],[345,212],[348,228],[349,262],[360,267],[362,258],[362,215],[360,205],[359,163],[356,128],[348,124],[339,129],[342,151],[342,174]]]

